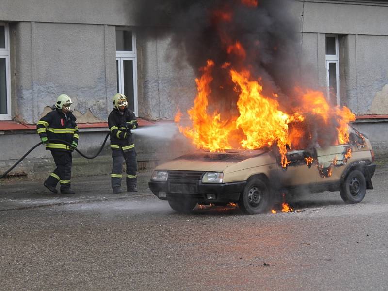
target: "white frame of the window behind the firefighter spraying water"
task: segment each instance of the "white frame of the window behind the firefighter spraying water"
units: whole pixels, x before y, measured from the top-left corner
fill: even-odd
[[[124,94],[124,72],[123,64],[124,61],[132,61],[133,64],[133,108],[136,116],[138,115],[138,100],[137,100],[137,56],[136,56],[136,35],[133,29],[125,27],[116,27],[116,30],[128,30],[132,32],[132,50],[116,50],[116,61],[118,61],[118,88],[119,93]]]

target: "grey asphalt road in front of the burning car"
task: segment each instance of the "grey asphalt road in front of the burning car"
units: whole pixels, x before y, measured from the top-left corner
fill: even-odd
[[[0,212],[0,290],[388,290],[388,173],[364,201],[177,214],[156,197]]]

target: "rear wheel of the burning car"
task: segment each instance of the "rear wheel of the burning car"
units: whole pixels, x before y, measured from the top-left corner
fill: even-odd
[[[359,170],[351,171],[339,188],[339,194],[346,203],[361,202],[366,192],[366,180]]]

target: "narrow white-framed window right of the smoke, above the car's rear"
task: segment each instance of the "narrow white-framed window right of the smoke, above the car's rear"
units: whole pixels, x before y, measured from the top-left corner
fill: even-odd
[[[326,84],[327,99],[339,104],[339,52],[338,35],[326,34]]]

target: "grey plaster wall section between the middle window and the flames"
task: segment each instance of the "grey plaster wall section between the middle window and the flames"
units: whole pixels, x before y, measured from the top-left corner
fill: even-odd
[[[150,120],[174,118],[196,96],[195,75],[185,60],[175,64],[169,39],[137,37],[139,115]]]

